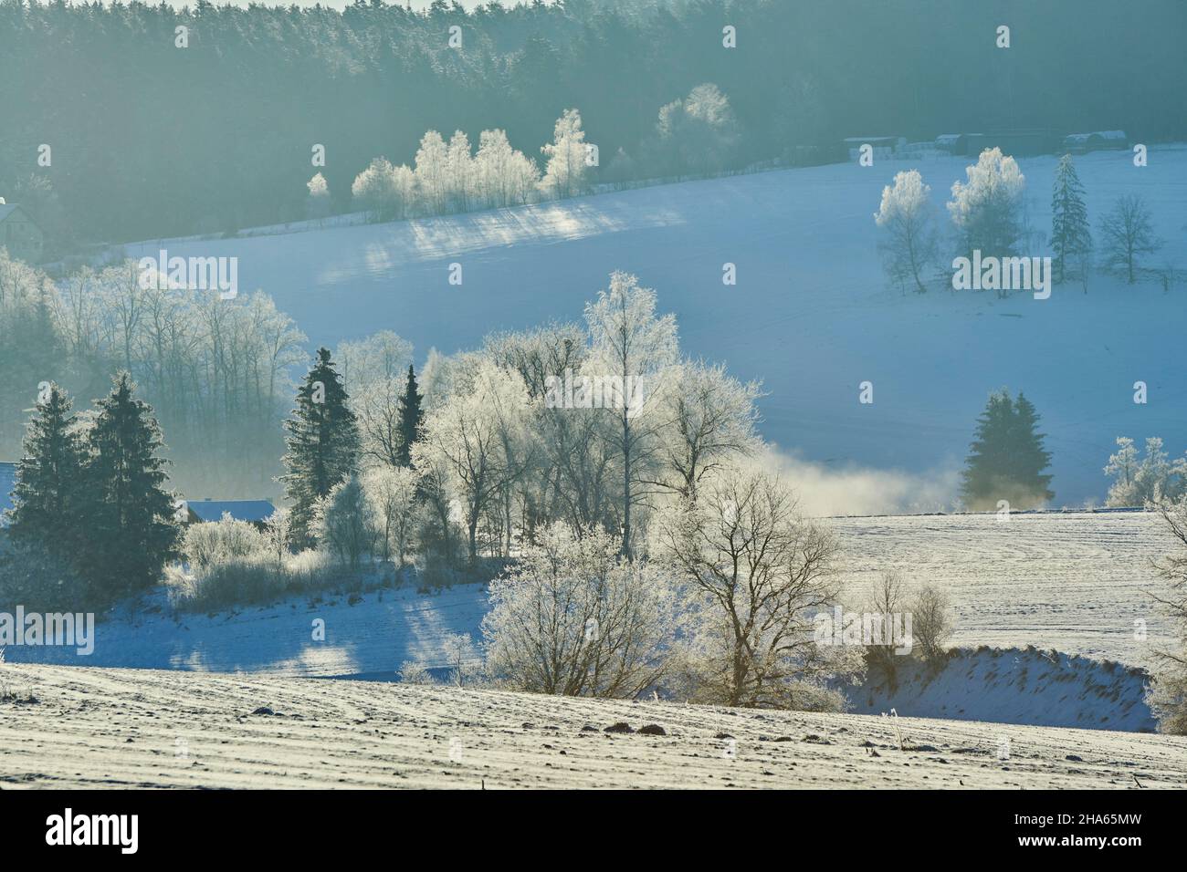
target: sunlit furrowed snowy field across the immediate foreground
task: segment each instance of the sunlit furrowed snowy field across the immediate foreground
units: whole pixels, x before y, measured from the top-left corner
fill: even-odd
[[[0,669],[37,700],[0,704],[5,788],[1187,787],[1187,739],[1142,733],[277,676]],[[617,723],[636,732],[605,732]],[[647,725],[664,734],[637,732]]]

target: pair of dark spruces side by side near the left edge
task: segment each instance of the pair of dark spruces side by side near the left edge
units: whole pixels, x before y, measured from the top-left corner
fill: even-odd
[[[2,555],[2,592],[78,609],[157,583],[176,556],[177,508],[152,409],[123,373],[85,419],[49,384],[28,424]]]

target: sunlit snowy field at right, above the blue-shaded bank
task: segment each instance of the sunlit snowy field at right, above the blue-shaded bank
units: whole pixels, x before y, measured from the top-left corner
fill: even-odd
[[[832,518],[859,603],[878,573],[937,584],[956,607],[960,645],[1034,645],[1150,667],[1172,644],[1148,596],[1150,561],[1175,549],[1144,511]],[[1143,632],[1144,630],[1144,632]]]

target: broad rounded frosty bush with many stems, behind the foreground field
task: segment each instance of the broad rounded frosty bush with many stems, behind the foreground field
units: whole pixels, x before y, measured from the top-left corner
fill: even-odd
[[[667,573],[620,556],[603,532],[560,524],[490,583],[488,671],[535,693],[630,699],[662,675],[675,629]]]

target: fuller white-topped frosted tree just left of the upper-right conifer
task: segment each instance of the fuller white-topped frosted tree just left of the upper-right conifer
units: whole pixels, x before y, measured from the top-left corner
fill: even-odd
[[[1001,148],[986,148],[965,170],[967,180],[952,185],[948,214],[961,235],[964,254],[1003,257],[1022,236],[1020,212],[1026,177]]]

